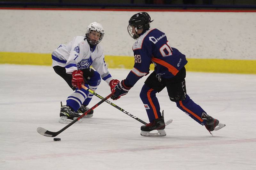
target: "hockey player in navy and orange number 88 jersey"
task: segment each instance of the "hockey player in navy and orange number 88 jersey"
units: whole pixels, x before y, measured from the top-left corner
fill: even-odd
[[[149,73],[149,65],[153,62],[155,70],[148,76],[143,85],[140,98],[148,114],[149,122],[141,126],[142,136],[165,136],[164,115],[161,115],[156,92],[161,92],[164,87],[171,101],[176,102],[177,107],[204,125],[207,130],[213,131],[223,128],[225,125],[217,119],[207,115],[206,112],[190,99],[186,92],[187,60],[185,55],[176,48],[170,46],[165,33],[158,29],[150,28],[151,18],[147,12],[139,12],[129,20],[127,27],[129,35],[137,40],[132,49],[134,53],[134,67],[115,87],[113,100],[128,93],[135,83]],[[150,133],[157,130],[158,133]]]

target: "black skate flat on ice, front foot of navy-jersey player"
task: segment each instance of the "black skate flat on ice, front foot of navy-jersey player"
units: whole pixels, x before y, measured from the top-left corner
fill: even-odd
[[[146,125],[140,127],[140,135],[153,137],[153,136],[166,136],[165,133],[165,123],[164,123],[164,110],[162,112],[162,116],[158,119],[155,119],[153,122],[150,122]],[[152,130],[157,130],[157,133],[150,133]]]

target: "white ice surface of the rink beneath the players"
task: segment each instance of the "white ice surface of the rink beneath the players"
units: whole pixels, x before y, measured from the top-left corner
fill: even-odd
[[[124,79],[130,70],[109,69]],[[53,141],[37,127],[58,131],[60,101],[72,93],[50,66],[0,65],[1,170],[255,170],[256,75],[187,72],[187,93],[209,115],[227,126],[212,135],[168,98],[157,94],[165,137],[142,137],[142,123],[104,102]],[[113,103],[148,122],[140,100],[142,78]],[[96,93],[110,88],[102,80]],[[100,99],[93,97],[90,107]]]

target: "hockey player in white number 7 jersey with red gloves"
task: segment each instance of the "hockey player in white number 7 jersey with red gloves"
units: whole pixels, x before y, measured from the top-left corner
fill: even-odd
[[[92,22],[87,27],[85,36],[76,36],[67,45],[60,46],[52,52],[52,67],[68,85],[75,90],[67,98],[67,105],[60,107],[60,123],[68,123],[86,112],[86,107],[93,94],[82,88],[96,90],[101,78],[105,80],[113,92],[119,80],[110,75],[104,60],[103,48],[98,45],[103,39],[104,29],[101,24]],[[91,69],[92,66],[95,70]],[[90,118],[93,110],[83,118]],[[80,119],[78,122],[81,122]]]

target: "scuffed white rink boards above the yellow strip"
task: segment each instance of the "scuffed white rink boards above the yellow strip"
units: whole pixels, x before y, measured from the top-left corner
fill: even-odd
[[[0,10],[0,51],[52,53],[84,35],[97,21],[105,28],[105,55],[132,56],[129,18],[140,11]],[[152,28],[188,58],[256,60],[256,12],[148,11]]]

